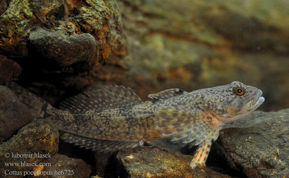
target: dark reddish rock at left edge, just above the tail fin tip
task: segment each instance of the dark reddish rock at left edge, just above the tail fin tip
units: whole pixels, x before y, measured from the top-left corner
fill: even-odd
[[[22,68],[18,63],[7,59],[4,55],[0,55],[0,84],[5,84],[12,78],[18,77],[21,72]]]

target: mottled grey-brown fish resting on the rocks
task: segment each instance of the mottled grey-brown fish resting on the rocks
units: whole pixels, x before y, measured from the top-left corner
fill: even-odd
[[[250,114],[264,102],[261,90],[238,81],[192,92],[167,89],[150,94],[146,102],[131,88],[109,85],[107,91],[68,98],[57,109],[15,82],[7,86],[34,118],[48,119],[66,132],[61,136],[66,142],[108,152],[171,137],[171,141],[199,145],[192,169],[205,164],[220,126]]]

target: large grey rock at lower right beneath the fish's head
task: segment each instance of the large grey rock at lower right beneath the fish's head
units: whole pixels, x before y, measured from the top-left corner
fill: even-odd
[[[223,129],[210,154],[221,153],[231,169],[249,178],[289,177],[288,125],[289,117],[275,116],[255,127]]]

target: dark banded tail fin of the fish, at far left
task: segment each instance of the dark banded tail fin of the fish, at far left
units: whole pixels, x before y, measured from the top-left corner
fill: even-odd
[[[49,103],[36,96],[35,94],[25,90],[15,82],[9,82],[6,85],[15,93],[21,102],[28,107],[34,118],[42,119],[47,110],[53,109]]]

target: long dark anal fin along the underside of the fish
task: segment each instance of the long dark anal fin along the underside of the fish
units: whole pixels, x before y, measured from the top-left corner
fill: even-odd
[[[113,152],[124,148],[134,148],[139,145],[139,142],[120,142],[92,139],[84,136],[65,133],[61,136],[65,142],[74,143],[79,147],[85,147],[85,149],[97,150],[98,152]]]

